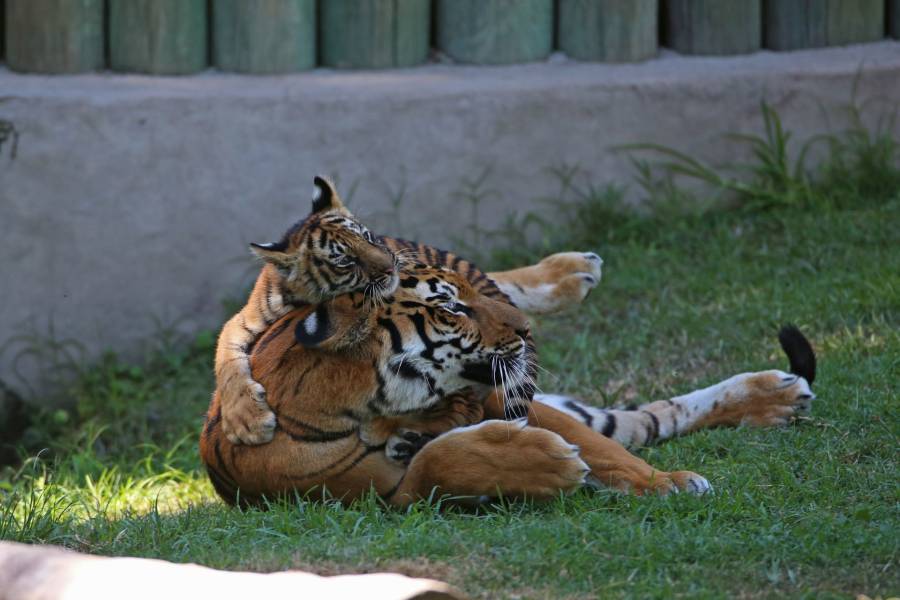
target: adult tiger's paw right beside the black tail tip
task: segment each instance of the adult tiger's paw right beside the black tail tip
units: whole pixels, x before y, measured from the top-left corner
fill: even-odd
[[[808,414],[816,395],[803,377],[784,371],[737,375],[705,419],[713,425],[776,427]]]

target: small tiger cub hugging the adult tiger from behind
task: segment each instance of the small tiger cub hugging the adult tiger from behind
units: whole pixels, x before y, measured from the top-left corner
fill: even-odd
[[[272,439],[275,414],[266,390],[250,373],[249,351],[276,320],[295,308],[349,292],[370,302],[392,294],[403,257],[462,273],[481,293],[532,314],[556,312],[580,303],[597,285],[602,259],[593,252],[562,252],[536,265],[484,273],[443,250],[376,236],[345,206],[334,183],[313,179],[312,210],[276,242],[252,243],[264,265],[247,303],[223,326],[216,347],[216,386],[221,392],[222,429],[232,443]],[[526,336],[530,342],[530,334]],[[533,346],[530,350],[533,352]],[[524,414],[529,389],[510,390],[510,410]]]

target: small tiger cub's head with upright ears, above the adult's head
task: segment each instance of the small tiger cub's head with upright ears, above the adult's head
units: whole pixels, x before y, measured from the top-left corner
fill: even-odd
[[[399,281],[397,257],[347,210],[330,181],[313,182],[309,216],[281,240],[250,249],[275,267],[285,291],[299,301],[317,303],[349,292],[370,299],[391,294]]]

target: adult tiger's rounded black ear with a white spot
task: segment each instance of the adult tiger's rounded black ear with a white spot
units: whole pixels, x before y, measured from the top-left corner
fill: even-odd
[[[304,348],[338,351],[355,346],[372,333],[371,310],[358,301],[361,294],[345,294],[316,306],[294,328]]]

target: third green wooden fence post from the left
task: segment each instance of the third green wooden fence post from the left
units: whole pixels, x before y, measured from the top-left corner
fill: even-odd
[[[216,0],[213,64],[239,73],[290,73],[316,65],[315,0]]]

